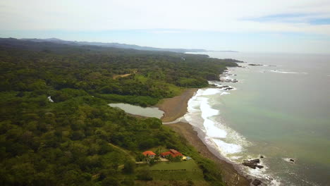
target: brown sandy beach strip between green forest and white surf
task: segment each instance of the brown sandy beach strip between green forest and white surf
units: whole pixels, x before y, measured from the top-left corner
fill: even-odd
[[[184,116],[188,111],[188,101],[195,95],[195,92],[197,92],[196,88],[186,89],[181,95],[164,99],[160,104],[157,104],[157,107],[161,111],[164,111],[164,116],[161,117],[161,121],[163,123],[169,123]],[[212,159],[212,161],[219,166],[222,178],[226,185],[250,185],[250,180],[244,175],[238,173],[232,163],[220,159],[209,150],[200,137],[198,137],[197,131],[194,130],[193,125],[180,121],[165,125],[185,137],[190,145],[195,147],[202,156],[207,159]]]

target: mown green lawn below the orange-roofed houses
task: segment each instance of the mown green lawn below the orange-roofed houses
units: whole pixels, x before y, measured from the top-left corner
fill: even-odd
[[[202,171],[193,160],[143,165],[137,171],[145,168],[149,169],[154,180],[204,180]]]

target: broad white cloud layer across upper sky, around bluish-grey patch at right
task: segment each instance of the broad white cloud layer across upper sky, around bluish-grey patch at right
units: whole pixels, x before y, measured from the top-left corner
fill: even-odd
[[[244,20],[283,13],[330,16],[330,1],[87,1],[0,2],[1,30],[212,30],[329,34],[329,25]],[[329,17],[328,17],[329,18]]]

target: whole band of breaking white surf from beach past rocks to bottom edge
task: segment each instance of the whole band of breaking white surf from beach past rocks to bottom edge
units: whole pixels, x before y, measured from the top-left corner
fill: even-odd
[[[244,159],[255,159],[255,156],[246,154],[247,147],[250,147],[252,143],[225,125],[226,123],[221,121],[221,111],[212,108],[214,104],[212,95],[215,94],[223,95],[228,92],[225,93],[219,88],[199,89],[188,101],[188,113],[183,117],[190,125],[193,125],[202,142],[213,149],[216,156],[222,156],[236,165],[240,165]],[[252,169],[240,166],[240,169],[267,185],[280,185],[279,178],[267,173],[268,168],[263,160],[261,160],[261,165],[264,168]]]

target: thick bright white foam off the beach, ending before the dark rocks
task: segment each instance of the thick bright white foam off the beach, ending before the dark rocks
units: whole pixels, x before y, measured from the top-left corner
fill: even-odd
[[[242,151],[243,146],[247,146],[248,142],[236,131],[216,121],[219,119],[220,112],[212,109],[208,97],[213,94],[229,93],[222,89],[199,89],[197,94],[188,101],[188,113],[185,115],[185,120],[200,128],[206,136],[204,142],[220,151],[223,156],[238,153]],[[200,123],[197,123],[197,120],[200,120]]]

